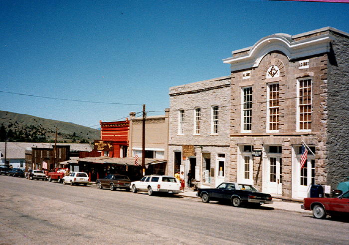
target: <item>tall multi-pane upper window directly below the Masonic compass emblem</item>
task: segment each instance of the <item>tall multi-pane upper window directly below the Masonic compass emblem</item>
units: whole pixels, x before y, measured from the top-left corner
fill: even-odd
[[[268,107],[269,107],[269,131],[279,130],[279,83],[269,84],[268,86]]]

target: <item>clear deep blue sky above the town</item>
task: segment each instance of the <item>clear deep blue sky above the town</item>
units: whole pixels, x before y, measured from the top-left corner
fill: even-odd
[[[349,32],[349,4],[265,0],[0,2],[0,110],[98,127],[169,107],[169,88],[278,32]],[[151,112],[149,115],[163,112]]]

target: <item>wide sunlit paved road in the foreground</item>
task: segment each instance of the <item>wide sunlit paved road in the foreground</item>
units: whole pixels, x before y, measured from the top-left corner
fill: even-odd
[[[0,244],[348,244],[349,223],[0,176]]]

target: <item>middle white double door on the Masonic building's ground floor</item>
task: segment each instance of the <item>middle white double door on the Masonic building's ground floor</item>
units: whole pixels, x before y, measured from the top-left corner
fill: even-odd
[[[265,178],[265,179],[264,179]],[[263,192],[282,195],[282,159],[277,155],[268,155]]]

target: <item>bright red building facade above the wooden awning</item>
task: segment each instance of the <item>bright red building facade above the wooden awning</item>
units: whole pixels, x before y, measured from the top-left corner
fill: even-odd
[[[101,140],[95,141],[95,150],[101,151],[101,156],[127,157],[129,146],[130,121],[102,122]]]

